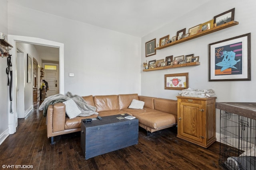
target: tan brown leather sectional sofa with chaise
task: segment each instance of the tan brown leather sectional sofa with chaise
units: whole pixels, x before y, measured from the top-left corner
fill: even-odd
[[[128,113],[139,120],[139,126],[146,131],[154,132],[177,124],[177,101],[170,99],[138,96],[138,94],[121,94],[106,96],[84,96],[87,104],[96,107],[101,117]],[[143,101],[143,109],[129,109],[133,99]],[[97,117],[75,117],[70,119],[66,116],[65,104],[56,103],[50,105],[47,110],[47,137],[63,135],[80,131],[81,119]]]

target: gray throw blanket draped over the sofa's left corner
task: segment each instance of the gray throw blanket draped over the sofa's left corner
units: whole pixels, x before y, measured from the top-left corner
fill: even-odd
[[[39,106],[39,110],[44,110],[43,114],[46,116],[49,105],[64,102],[70,99],[74,100],[78,108],[82,111],[82,113],[80,113],[78,116],[90,116],[93,114],[98,115],[98,112],[96,112],[96,107],[88,105],[81,96],[76,94],[72,95],[71,92],[68,92],[67,96],[64,94],[56,94],[45,98],[44,102],[42,102],[42,104]]]

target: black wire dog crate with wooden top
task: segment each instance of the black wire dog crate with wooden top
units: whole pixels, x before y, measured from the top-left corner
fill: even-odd
[[[256,103],[217,102],[220,159],[226,170],[256,170]]]

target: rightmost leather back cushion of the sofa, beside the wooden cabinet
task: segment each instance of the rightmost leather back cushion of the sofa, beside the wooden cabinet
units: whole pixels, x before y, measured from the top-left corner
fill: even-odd
[[[177,115],[177,101],[171,99],[154,98],[154,109]]]

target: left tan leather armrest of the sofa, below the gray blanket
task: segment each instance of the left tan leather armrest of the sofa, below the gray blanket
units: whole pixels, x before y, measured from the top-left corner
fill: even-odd
[[[66,106],[63,103],[49,105],[47,109],[47,136],[65,130]]]

